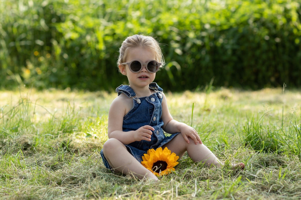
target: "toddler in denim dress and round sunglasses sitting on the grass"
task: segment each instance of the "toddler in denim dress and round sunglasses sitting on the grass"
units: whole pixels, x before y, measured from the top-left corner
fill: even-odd
[[[179,158],[187,151],[194,162],[224,165],[202,143],[194,128],[174,120],[169,113],[163,89],[153,82],[164,65],[160,45],[154,38],[144,35],[126,38],[117,64],[129,85],[116,88],[118,96],[109,109],[109,140],[101,150],[106,168],[157,181],[158,177],[142,166],[141,161],[148,149],[159,147],[167,147]],[[164,131],[171,135],[165,136]],[[243,169],[245,165],[241,162],[232,167]]]

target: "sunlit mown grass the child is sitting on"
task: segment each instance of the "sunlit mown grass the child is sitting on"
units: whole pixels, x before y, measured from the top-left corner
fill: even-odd
[[[301,198],[301,91],[166,92],[175,119],[195,127],[222,161],[246,169],[208,168],[185,155],[156,184],[112,174],[101,161],[115,96],[0,91],[0,198]]]

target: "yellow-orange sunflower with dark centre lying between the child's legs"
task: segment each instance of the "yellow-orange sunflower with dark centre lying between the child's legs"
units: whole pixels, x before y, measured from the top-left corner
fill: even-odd
[[[162,176],[174,171],[174,166],[178,164],[179,157],[175,153],[171,153],[167,147],[162,150],[149,149],[147,154],[142,156],[141,164],[150,170],[156,176]]]

